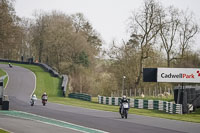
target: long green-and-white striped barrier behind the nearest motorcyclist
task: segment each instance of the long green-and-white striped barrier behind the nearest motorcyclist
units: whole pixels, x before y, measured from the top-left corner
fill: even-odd
[[[100,104],[119,105],[120,97],[103,97],[98,96]],[[171,114],[182,114],[182,104],[174,104],[173,102],[161,100],[143,100],[143,99],[129,99],[130,107],[140,109],[155,109],[165,111]]]

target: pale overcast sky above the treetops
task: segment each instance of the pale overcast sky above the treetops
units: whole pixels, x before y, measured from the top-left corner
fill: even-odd
[[[165,7],[173,5],[183,10],[188,8],[196,15],[200,25],[199,0],[158,1]],[[33,13],[40,10],[58,10],[68,15],[83,13],[93,28],[100,33],[104,47],[108,48],[113,40],[128,40],[128,19],[142,3],[143,0],[15,0],[15,11],[19,17],[27,18],[33,18]],[[200,39],[197,40],[197,45],[200,47]]]

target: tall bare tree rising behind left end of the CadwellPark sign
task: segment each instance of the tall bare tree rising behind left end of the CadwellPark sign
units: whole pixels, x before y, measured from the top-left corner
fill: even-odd
[[[149,51],[155,44],[156,36],[160,30],[158,21],[161,6],[155,0],[146,0],[141,11],[136,12],[131,18],[130,28],[132,30],[131,41],[133,46],[138,47],[139,66],[136,78],[136,87],[142,77],[142,69],[145,59],[149,57]]]

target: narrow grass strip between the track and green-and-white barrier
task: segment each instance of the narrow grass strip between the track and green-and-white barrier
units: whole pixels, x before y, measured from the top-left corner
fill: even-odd
[[[73,98],[61,98],[61,97],[49,97],[49,101],[54,102],[54,103],[59,103],[59,104],[104,110],[104,111],[111,111],[111,112],[119,111],[119,106],[104,105],[104,104],[97,103],[96,97],[92,98],[92,102],[81,101],[81,100],[73,99]],[[181,121],[200,123],[200,109],[198,109],[196,112],[193,112],[191,114],[181,115],[181,114],[168,114],[168,113],[165,113],[164,111],[159,111],[159,110],[130,108],[129,114],[145,115],[145,116],[166,118],[166,119],[172,119],[172,120],[181,120]]]

